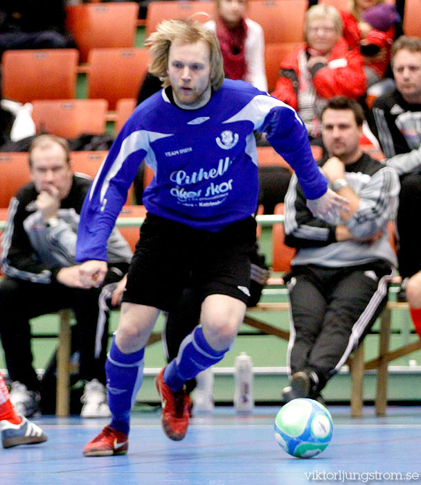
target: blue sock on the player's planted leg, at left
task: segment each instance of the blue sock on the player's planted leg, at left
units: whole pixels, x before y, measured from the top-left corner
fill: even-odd
[[[113,335],[105,362],[108,405],[111,411],[110,426],[125,434],[129,434],[130,410],[142,385],[144,354],[145,349],[134,353],[121,352]]]

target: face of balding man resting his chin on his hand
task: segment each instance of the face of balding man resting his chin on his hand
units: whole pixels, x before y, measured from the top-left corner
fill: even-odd
[[[38,192],[51,193],[51,186],[57,188],[60,200],[66,197],[71,189],[73,173],[66,161],[66,152],[57,143],[48,147],[37,147],[30,155],[31,174]]]

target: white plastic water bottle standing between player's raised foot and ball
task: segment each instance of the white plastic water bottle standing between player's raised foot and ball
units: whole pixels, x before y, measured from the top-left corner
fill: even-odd
[[[235,358],[234,407],[238,413],[247,414],[253,410],[253,362],[247,353],[242,352]]]

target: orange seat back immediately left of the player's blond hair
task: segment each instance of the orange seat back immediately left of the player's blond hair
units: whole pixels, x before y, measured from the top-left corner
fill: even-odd
[[[137,98],[147,73],[147,48],[99,48],[89,52],[88,98],[105,98],[116,109],[121,98]]]

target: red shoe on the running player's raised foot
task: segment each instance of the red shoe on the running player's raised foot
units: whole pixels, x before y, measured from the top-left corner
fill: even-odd
[[[161,423],[168,438],[180,441],[186,436],[188,428],[190,398],[185,387],[177,392],[172,392],[163,380],[163,371],[164,369],[155,380],[162,403]]]

